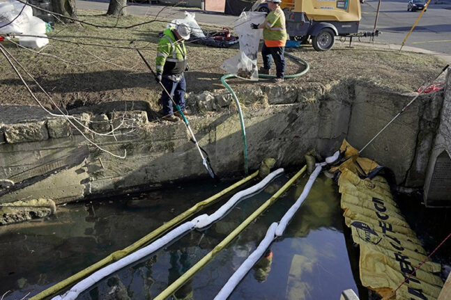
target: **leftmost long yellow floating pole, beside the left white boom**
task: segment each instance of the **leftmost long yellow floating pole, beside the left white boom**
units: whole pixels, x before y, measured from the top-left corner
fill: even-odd
[[[207,198],[206,200],[196,203],[196,205],[194,205],[193,207],[189,208],[188,210],[185,210],[185,212],[182,212],[171,221],[164,223],[162,226],[153,230],[148,235],[142,237],[137,242],[131,244],[127,248],[123,248],[122,250],[116,251],[108,255],[106,258],[103,258],[102,260],[95,262],[94,265],[91,265],[86,269],[79,271],[77,274],[74,274],[59,283],[56,283],[56,285],[52,285],[47,290],[43,290],[43,292],[36,294],[36,296],[31,297],[29,300],[41,300],[44,299],[45,297],[52,296],[53,294],[56,294],[57,292],[63,290],[64,288],[72,285],[73,283],[76,283],[77,281],[88,276],[89,274],[92,274],[94,271],[97,271],[98,269],[104,267],[105,265],[108,265],[110,262],[120,260],[126,255],[136,251],[138,248],[144,246],[144,244],[147,244],[153,241],[154,239],[160,237],[163,233],[167,232],[167,230],[173,228],[178,223],[185,221],[193,214],[202,210],[204,207],[208,207],[209,205],[214,204],[217,199],[229,193],[229,191],[232,191],[233,189],[236,189],[240,185],[248,182],[249,180],[252,180],[252,178],[256,177],[257,175],[259,175],[259,171],[255,171],[251,175],[243,178],[242,180],[236,182],[235,184],[232,184],[230,187],[227,187],[227,189],[220,191],[219,193],[211,196],[210,198]]]

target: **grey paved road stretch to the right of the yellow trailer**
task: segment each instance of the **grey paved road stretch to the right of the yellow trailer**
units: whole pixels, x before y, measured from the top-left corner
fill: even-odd
[[[378,0],[367,0],[362,4],[360,31],[374,28],[378,2]],[[381,2],[377,28],[383,34],[376,41],[401,45],[402,40],[420,15],[418,11],[408,12],[407,2],[408,0],[383,0]],[[433,4],[434,0],[431,0],[427,11],[422,15],[420,22],[406,41],[406,45],[451,54],[451,1],[442,2],[443,4]]]

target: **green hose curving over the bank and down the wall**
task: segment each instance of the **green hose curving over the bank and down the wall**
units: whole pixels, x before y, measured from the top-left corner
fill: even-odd
[[[285,55],[290,57],[290,58],[296,59],[296,61],[300,61],[301,63],[303,63],[305,65],[305,69],[303,70],[303,72],[292,74],[292,75],[286,75],[285,79],[300,77],[303,74],[309,72],[310,66],[307,63],[307,61],[303,60],[303,58],[300,58],[298,56],[294,56],[293,54],[289,54],[289,53],[286,53]],[[241,134],[243,135],[244,173],[245,173],[245,175],[247,175],[247,173],[248,173],[248,171],[247,171],[247,139],[246,139],[246,129],[245,129],[245,126],[244,126],[243,111],[241,111],[240,102],[238,102],[238,98],[236,97],[234,90],[232,90],[232,88],[226,82],[226,79],[233,78],[233,77],[236,77],[236,75],[234,75],[234,74],[225,74],[223,77],[221,77],[221,82],[227,88],[227,90],[229,90],[229,92],[231,93],[232,97],[234,97],[234,101],[235,101],[236,107],[238,108],[238,115],[240,116],[240,124],[241,124]],[[259,77],[260,78],[266,78],[266,79],[273,79],[273,78],[275,78],[274,75],[266,75],[266,74],[259,74]]]

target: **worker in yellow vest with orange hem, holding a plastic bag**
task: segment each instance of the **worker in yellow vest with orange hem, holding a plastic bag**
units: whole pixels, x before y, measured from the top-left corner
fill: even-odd
[[[263,56],[263,68],[260,69],[262,74],[269,74],[272,65],[271,56],[274,58],[276,77],[275,82],[284,81],[285,58],[284,50],[286,43],[286,26],[285,14],[280,8],[281,0],[266,0],[270,13],[266,16],[265,22],[262,24],[251,24],[252,29],[263,29],[263,40],[265,43],[261,48],[261,56]]]

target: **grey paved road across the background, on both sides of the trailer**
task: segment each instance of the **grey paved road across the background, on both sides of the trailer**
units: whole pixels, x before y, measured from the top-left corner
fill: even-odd
[[[401,45],[406,33],[415,23],[420,12],[407,11],[408,0],[382,0],[381,12],[377,28],[383,32],[376,42]],[[436,0],[431,0],[433,3]],[[443,4],[430,4],[423,14],[420,22],[406,41],[406,45],[427,49],[436,52],[451,54],[451,0],[440,0]],[[378,0],[365,0],[362,4],[362,21],[360,31],[372,31],[376,17]],[[77,8],[107,11],[108,1],[77,0]],[[128,13],[135,15],[156,15],[163,6],[151,4],[134,4],[128,7]],[[446,9],[449,8],[449,9]],[[168,8],[160,13],[161,17],[183,18],[186,8]],[[236,16],[223,14],[201,13],[197,9],[188,9],[197,12],[199,23],[231,25]],[[447,42],[430,42],[430,41]],[[417,43],[420,42],[420,43]]]

